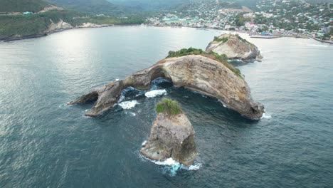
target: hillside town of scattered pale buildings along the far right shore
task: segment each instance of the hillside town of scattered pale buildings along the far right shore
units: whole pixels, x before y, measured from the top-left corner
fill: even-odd
[[[333,43],[333,4],[262,0],[255,11],[237,3],[198,1],[147,19],[152,26],[215,28],[253,38],[314,38]]]

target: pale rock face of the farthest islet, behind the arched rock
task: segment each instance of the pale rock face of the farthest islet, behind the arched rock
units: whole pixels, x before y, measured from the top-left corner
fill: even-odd
[[[227,41],[211,41],[206,48],[207,52],[213,51],[219,55],[226,54],[227,58],[243,61],[261,61],[263,58],[257,46],[240,38],[240,36],[223,34],[218,38],[225,38]]]

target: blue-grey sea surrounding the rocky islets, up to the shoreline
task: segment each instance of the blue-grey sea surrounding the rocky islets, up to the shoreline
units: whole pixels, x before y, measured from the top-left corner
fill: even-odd
[[[196,130],[191,169],[139,155],[163,96],[129,90],[100,117],[66,106],[151,66],[168,51],[206,48],[223,31],[115,26],[0,43],[0,187],[333,187],[333,45],[259,39],[263,62],[239,66],[265,117],[247,120],[213,98],[156,81]]]

